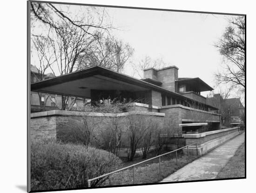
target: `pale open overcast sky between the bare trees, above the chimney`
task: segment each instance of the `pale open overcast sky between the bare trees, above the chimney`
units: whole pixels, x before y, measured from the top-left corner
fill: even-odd
[[[135,49],[132,61],[145,55],[179,68],[179,77],[199,77],[211,87],[222,56],[214,43],[228,26],[227,15],[106,8],[115,35]],[[131,67],[125,69],[131,74]],[[138,78],[138,77],[137,77]],[[203,92],[206,96],[208,92]]]

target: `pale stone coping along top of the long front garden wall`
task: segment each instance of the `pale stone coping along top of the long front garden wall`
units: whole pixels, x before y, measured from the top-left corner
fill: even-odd
[[[131,114],[138,115],[151,115],[151,116],[160,116],[164,117],[165,113],[156,113],[156,112],[146,112],[146,111],[130,111],[126,113],[94,113],[94,112],[79,112],[79,111],[64,111],[64,110],[52,110],[52,111],[43,111],[38,113],[31,113],[31,118],[36,117],[45,117],[52,115],[65,115],[65,116],[97,116],[97,117],[124,117]]]

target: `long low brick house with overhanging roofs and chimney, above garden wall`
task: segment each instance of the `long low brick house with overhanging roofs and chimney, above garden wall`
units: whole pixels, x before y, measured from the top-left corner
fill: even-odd
[[[144,69],[135,79],[104,67],[94,66],[31,84],[31,91],[100,100],[135,101],[145,111],[164,114],[164,125],[181,134],[192,127],[181,124],[207,122],[209,130],[220,128],[220,114],[200,93],[213,90],[200,78],[179,78],[178,67]],[[180,135],[179,135],[180,136]]]

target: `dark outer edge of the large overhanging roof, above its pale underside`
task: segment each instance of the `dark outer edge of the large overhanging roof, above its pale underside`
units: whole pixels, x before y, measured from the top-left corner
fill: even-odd
[[[110,70],[108,68],[100,67],[100,66],[88,67],[86,69],[82,69],[82,70],[75,71],[75,72],[72,72],[72,73],[60,75],[60,76],[50,78],[50,79],[47,79],[47,80],[40,80],[38,82],[35,82],[35,83],[31,84],[31,90],[35,91],[35,90],[39,90],[40,87],[42,87],[42,86],[48,87],[48,86],[57,85],[57,84],[60,84],[60,83],[63,83],[63,82],[71,81],[71,80],[77,80],[77,79],[80,79],[80,78],[85,78],[84,75],[87,75],[87,76],[93,76],[93,75],[96,75],[96,74],[104,75],[104,73],[108,73],[109,78],[111,78],[111,75],[112,76],[117,76],[118,80],[121,80],[121,81],[126,80],[126,82],[128,82],[130,84],[137,83],[138,86],[140,86],[140,87],[146,87],[148,89],[153,89],[153,90],[156,90],[156,91],[169,93],[169,94],[175,95],[177,97],[180,97],[180,98],[186,99],[186,100],[192,100],[189,97],[183,96],[182,94],[174,93],[172,91],[169,91],[169,90],[164,89],[162,87],[159,87],[159,86],[156,86],[154,84],[148,83],[146,81],[131,77],[131,76],[123,74],[123,73],[115,72],[114,70]],[[197,102],[199,102],[199,101],[197,101]],[[202,104],[204,104],[204,103],[202,103]],[[216,108],[214,106],[210,106],[208,104],[204,104],[204,105],[207,105],[207,106],[209,106],[213,109],[218,109],[218,108]]]

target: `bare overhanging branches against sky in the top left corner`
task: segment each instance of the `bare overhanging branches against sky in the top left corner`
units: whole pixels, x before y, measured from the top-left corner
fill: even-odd
[[[77,12],[72,13],[70,6],[65,7],[64,5],[59,6],[54,3],[31,2],[32,21],[39,20],[50,28],[59,29],[58,22],[63,21],[70,26],[80,28],[88,35],[95,36],[96,38],[97,34],[92,33],[95,29],[108,31],[113,28],[109,24],[104,25],[103,21],[108,16],[104,8],[78,6]]]

